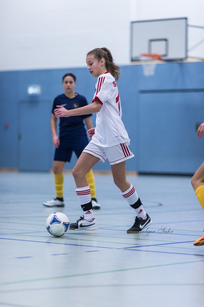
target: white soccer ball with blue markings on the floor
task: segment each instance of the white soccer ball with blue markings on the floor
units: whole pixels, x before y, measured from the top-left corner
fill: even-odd
[[[54,212],[48,216],[45,226],[51,235],[61,237],[69,229],[69,219],[64,213]]]

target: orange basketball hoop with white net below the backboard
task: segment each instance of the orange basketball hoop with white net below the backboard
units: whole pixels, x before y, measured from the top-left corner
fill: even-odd
[[[144,76],[154,76],[157,61],[161,60],[161,55],[158,53],[142,53],[140,56],[143,67]]]

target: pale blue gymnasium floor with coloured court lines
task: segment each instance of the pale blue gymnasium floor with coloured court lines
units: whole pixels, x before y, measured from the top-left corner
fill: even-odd
[[[204,246],[193,242],[203,235],[204,211],[191,178],[128,180],[154,232],[128,234],[134,210],[111,176],[96,175],[98,230],[56,238],[45,228],[50,213],[71,222],[82,214],[72,175],[65,174],[66,206],[57,210],[42,205],[55,196],[52,174],[0,173],[0,306],[203,306]]]

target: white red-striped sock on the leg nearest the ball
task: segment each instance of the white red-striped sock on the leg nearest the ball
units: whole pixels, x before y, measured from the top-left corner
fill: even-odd
[[[83,209],[84,219],[87,221],[94,219],[89,186],[87,185],[86,187],[76,188],[76,195],[78,196],[81,208]]]

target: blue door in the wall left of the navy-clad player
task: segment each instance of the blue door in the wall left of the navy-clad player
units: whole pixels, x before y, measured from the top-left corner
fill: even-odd
[[[52,168],[50,100],[19,102],[19,169],[46,171]]]

